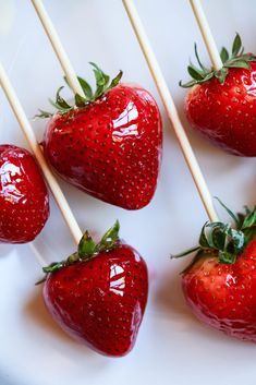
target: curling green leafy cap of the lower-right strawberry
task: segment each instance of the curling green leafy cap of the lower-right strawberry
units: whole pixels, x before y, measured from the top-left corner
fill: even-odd
[[[231,216],[234,226],[221,221],[206,222],[198,245],[171,257],[178,258],[196,251],[192,264],[206,253],[216,255],[220,263],[235,263],[236,257],[256,236],[256,206],[252,210],[245,207],[244,214],[235,215],[219,198],[217,200]]]

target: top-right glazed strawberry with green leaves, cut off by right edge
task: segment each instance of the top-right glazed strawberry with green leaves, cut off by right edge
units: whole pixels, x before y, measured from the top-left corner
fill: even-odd
[[[222,48],[220,71],[206,69],[197,55],[199,69],[187,70],[193,80],[185,99],[185,111],[195,131],[212,144],[239,156],[256,156],[256,57],[243,53],[239,35],[232,55]]]

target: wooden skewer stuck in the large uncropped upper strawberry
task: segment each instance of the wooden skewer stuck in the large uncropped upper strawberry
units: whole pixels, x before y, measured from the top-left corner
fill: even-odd
[[[47,36],[49,37],[49,40],[51,43],[51,46],[59,59],[59,62],[62,67],[62,70],[68,79],[68,82],[73,89],[74,94],[78,94],[81,96],[84,96],[83,88],[80,85],[80,82],[76,77],[75,71],[73,67],[71,65],[71,62],[69,60],[69,57],[66,52],[64,51],[64,48],[61,44],[61,40],[57,34],[57,31],[49,17],[49,15],[46,12],[46,9],[40,0],[32,0],[32,3],[36,10],[36,13],[38,17],[41,21],[41,24],[45,28],[45,32]]]

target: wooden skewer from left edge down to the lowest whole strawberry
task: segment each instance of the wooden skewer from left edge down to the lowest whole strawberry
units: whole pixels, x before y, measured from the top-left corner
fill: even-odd
[[[4,91],[4,94],[12,107],[12,110],[16,117],[16,120],[21,127],[21,129],[24,132],[24,135],[26,136],[26,140],[45,175],[45,178],[48,182],[48,185],[52,192],[52,195],[54,196],[54,200],[62,213],[62,216],[70,229],[71,234],[73,236],[73,239],[75,243],[77,244],[82,238],[82,231],[75,220],[75,217],[70,208],[69,203],[66,202],[57,180],[54,179],[49,166],[47,165],[41,148],[39,144],[36,141],[36,136],[33,132],[32,125],[22,108],[22,105],[9,81],[9,77],[0,63],[0,84]]]

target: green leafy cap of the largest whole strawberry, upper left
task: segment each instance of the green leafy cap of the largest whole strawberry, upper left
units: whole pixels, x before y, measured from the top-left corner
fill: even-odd
[[[95,100],[103,96],[109,89],[115,87],[123,75],[123,72],[119,71],[118,75],[112,81],[110,81],[110,76],[103,73],[103,71],[100,70],[100,68],[97,64],[93,62],[90,62],[89,64],[93,67],[93,71],[95,74],[95,82],[96,82],[95,92],[84,79],[77,76],[77,80],[80,82],[80,85],[83,89],[84,95],[75,94],[73,101],[68,103],[60,95],[61,91],[64,88],[62,86],[57,91],[56,100],[53,101],[49,99],[50,104],[57,109],[59,113],[65,113],[75,108],[84,108],[90,103],[94,103]],[[70,84],[65,76],[64,76],[64,81],[70,87]],[[51,118],[52,116],[53,116],[52,112],[44,111],[41,109],[39,109],[39,113],[36,115],[37,118]]]

